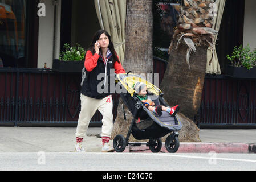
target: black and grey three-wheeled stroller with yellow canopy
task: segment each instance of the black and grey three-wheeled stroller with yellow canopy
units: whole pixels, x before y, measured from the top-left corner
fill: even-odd
[[[161,137],[171,133],[165,140],[165,147],[168,152],[176,152],[180,146],[178,140],[178,130],[181,129],[182,123],[179,121],[177,115],[172,117],[168,112],[162,111],[159,116],[156,113],[148,110],[143,103],[136,97],[137,93],[133,90],[132,85],[135,82],[144,82],[147,85],[147,96],[155,105],[164,105],[169,107],[164,101],[163,93],[159,88],[150,82],[144,80],[139,75],[135,74],[118,74],[116,75],[120,88],[127,90],[127,93],[120,93],[124,104],[131,111],[133,119],[129,127],[127,136],[119,134],[113,139],[113,148],[116,152],[123,152],[128,144],[132,146],[141,146],[145,144],[152,152],[159,152],[162,147]],[[123,108],[124,109],[124,108]],[[125,117],[125,113],[124,113]],[[137,140],[149,139],[149,142],[129,142],[130,135]]]

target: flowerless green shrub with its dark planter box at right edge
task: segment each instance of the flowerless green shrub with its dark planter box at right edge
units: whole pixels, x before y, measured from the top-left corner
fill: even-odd
[[[231,65],[226,65],[226,76],[233,78],[256,78],[256,49],[235,46],[232,55],[227,55]]]

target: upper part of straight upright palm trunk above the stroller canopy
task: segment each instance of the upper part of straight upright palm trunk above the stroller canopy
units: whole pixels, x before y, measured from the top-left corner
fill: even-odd
[[[152,1],[128,0],[125,30],[125,71],[152,73]]]

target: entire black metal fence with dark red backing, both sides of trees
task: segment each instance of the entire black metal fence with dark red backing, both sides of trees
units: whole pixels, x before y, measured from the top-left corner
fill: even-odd
[[[159,84],[167,61],[153,57]],[[0,124],[77,123],[80,112],[80,73],[52,69],[0,69]],[[116,118],[119,94],[112,94]],[[101,123],[96,111],[91,123]],[[256,80],[206,75],[201,107],[194,117],[198,127],[256,126]]]

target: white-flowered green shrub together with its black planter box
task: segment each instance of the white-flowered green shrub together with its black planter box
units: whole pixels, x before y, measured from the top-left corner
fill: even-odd
[[[71,47],[64,44],[64,51],[60,52],[60,59],[54,59],[52,69],[58,72],[82,73],[86,51],[79,45]]]

